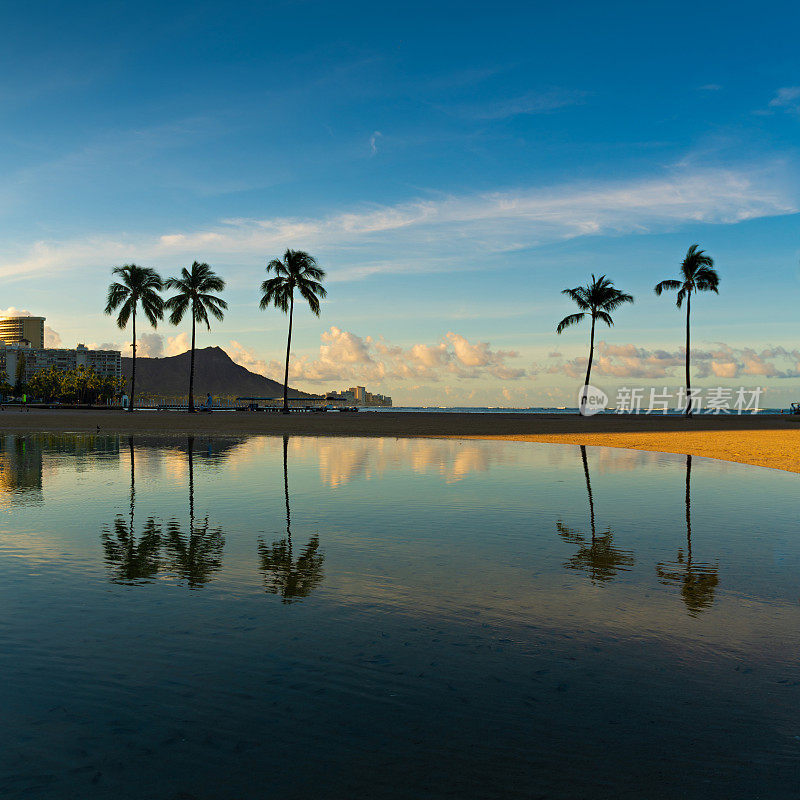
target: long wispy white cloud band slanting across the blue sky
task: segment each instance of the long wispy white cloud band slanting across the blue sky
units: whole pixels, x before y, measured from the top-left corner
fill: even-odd
[[[260,261],[265,253],[287,246],[319,253],[332,281],[378,272],[463,269],[487,255],[580,236],[795,213],[795,197],[785,165],[739,171],[680,168],[660,178],[420,198],[319,218],[228,219],[206,230],[149,237],[40,241],[16,261],[0,263],[0,277],[105,268],[133,258],[170,268],[199,252],[209,259]]]

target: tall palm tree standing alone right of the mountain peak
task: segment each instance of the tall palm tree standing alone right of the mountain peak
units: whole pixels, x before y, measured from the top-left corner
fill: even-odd
[[[283,260],[273,258],[267,264],[267,274],[275,273],[261,284],[263,296],[259,308],[263,311],[274,305],[289,314],[289,338],[286,342],[286,370],[283,374],[283,413],[289,413],[289,353],[292,349],[292,314],[294,312],[294,290],[306,299],[312,313],[319,316],[319,301],[328,293],[320,281],[325,270],[317,266],[313,256],[303,250],[287,250]]]

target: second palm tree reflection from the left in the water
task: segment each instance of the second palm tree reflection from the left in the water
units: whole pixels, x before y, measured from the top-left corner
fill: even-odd
[[[164,546],[169,565],[175,574],[186,581],[190,589],[198,589],[208,583],[213,574],[222,567],[222,551],[225,536],[222,528],[212,528],[208,516],[201,522],[194,519],[194,436],[187,444],[189,463],[189,533],[184,535],[178,520],[167,524]]]

